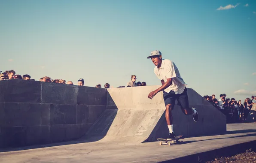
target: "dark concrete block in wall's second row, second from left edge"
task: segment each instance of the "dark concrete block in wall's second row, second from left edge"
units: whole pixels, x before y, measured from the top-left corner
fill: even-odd
[[[76,105],[50,104],[50,124],[76,124]]]

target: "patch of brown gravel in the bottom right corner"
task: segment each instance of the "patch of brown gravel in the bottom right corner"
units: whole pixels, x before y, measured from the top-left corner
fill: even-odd
[[[256,152],[249,149],[242,154],[232,157],[215,158],[215,160],[207,161],[206,163],[256,163]]]

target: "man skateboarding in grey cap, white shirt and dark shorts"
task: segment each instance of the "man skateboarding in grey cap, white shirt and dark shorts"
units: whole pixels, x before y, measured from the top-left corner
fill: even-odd
[[[198,121],[198,112],[195,107],[189,108],[189,99],[186,83],[180,77],[180,72],[174,62],[162,59],[162,53],[158,50],[152,51],[149,57],[155,64],[155,75],[161,80],[162,86],[149,93],[148,98],[152,99],[158,92],[163,91],[165,100],[165,118],[169,128],[170,139],[175,138],[173,130],[173,117],[171,111],[174,109],[175,100],[185,115],[193,115],[194,121]]]

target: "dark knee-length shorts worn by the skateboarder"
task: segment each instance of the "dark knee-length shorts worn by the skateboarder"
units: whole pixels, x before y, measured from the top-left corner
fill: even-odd
[[[174,91],[170,91],[169,93],[164,92],[164,100],[165,100],[165,106],[168,104],[171,104],[172,109],[174,109],[175,100],[178,101],[178,106],[181,106],[184,109],[189,108],[189,98],[187,94],[187,88],[184,89],[182,94],[175,94]]]

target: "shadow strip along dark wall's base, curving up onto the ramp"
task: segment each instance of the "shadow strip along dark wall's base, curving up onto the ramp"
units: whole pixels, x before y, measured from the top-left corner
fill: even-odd
[[[0,153],[8,152],[8,151],[22,151],[22,150],[36,149],[36,148],[55,147],[60,145],[72,145],[72,144],[79,144],[79,143],[97,142],[103,139],[106,136],[108,130],[110,129],[110,126],[113,122],[113,119],[116,117],[117,110],[118,110],[109,92],[108,91],[106,92],[107,92],[106,105],[108,105],[108,102],[110,102],[112,109],[105,109],[105,111],[99,116],[99,118],[95,121],[95,123],[90,127],[88,132],[85,133],[85,135],[83,135],[81,138],[73,139],[70,141],[55,142],[55,143],[48,143],[48,144],[42,143],[37,145],[28,145],[28,146],[21,146],[21,147],[13,146],[13,147],[7,147],[7,148],[0,148]]]

